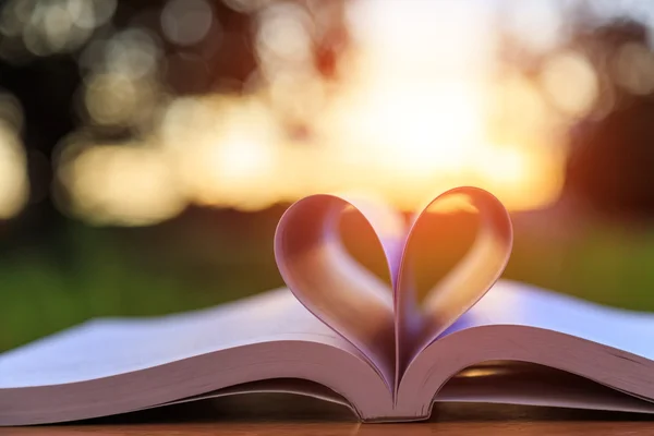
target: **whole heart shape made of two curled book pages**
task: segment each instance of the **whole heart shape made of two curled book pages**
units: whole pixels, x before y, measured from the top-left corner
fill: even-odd
[[[467,255],[419,304],[409,263],[415,229],[433,206],[474,208],[480,230]],[[358,263],[338,231],[346,210],[361,214],[386,258],[390,287]],[[275,258],[295,298],[350,341],[397,390],[404,368],[425,347],[474,305],[502,274],[512,249],[509,214],[479,187],[447,191],[407,228],[383,203],[318,194],[298,201],[275,233]]]

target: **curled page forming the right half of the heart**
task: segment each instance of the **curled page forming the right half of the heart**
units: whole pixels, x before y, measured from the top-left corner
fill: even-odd
[[[419,305],[412,270],[412,245],[423,217],[436,210],[462,209],[479,214],[481,226],[465,256],[437,282]],[[456,187],[437,196],[415,218],[402,253],[396,287],[396,389],[407,365],[493,287],[511,254],[513,231],[509,213],[487,191]],[[447,250],[436,246],[435,250]]]

